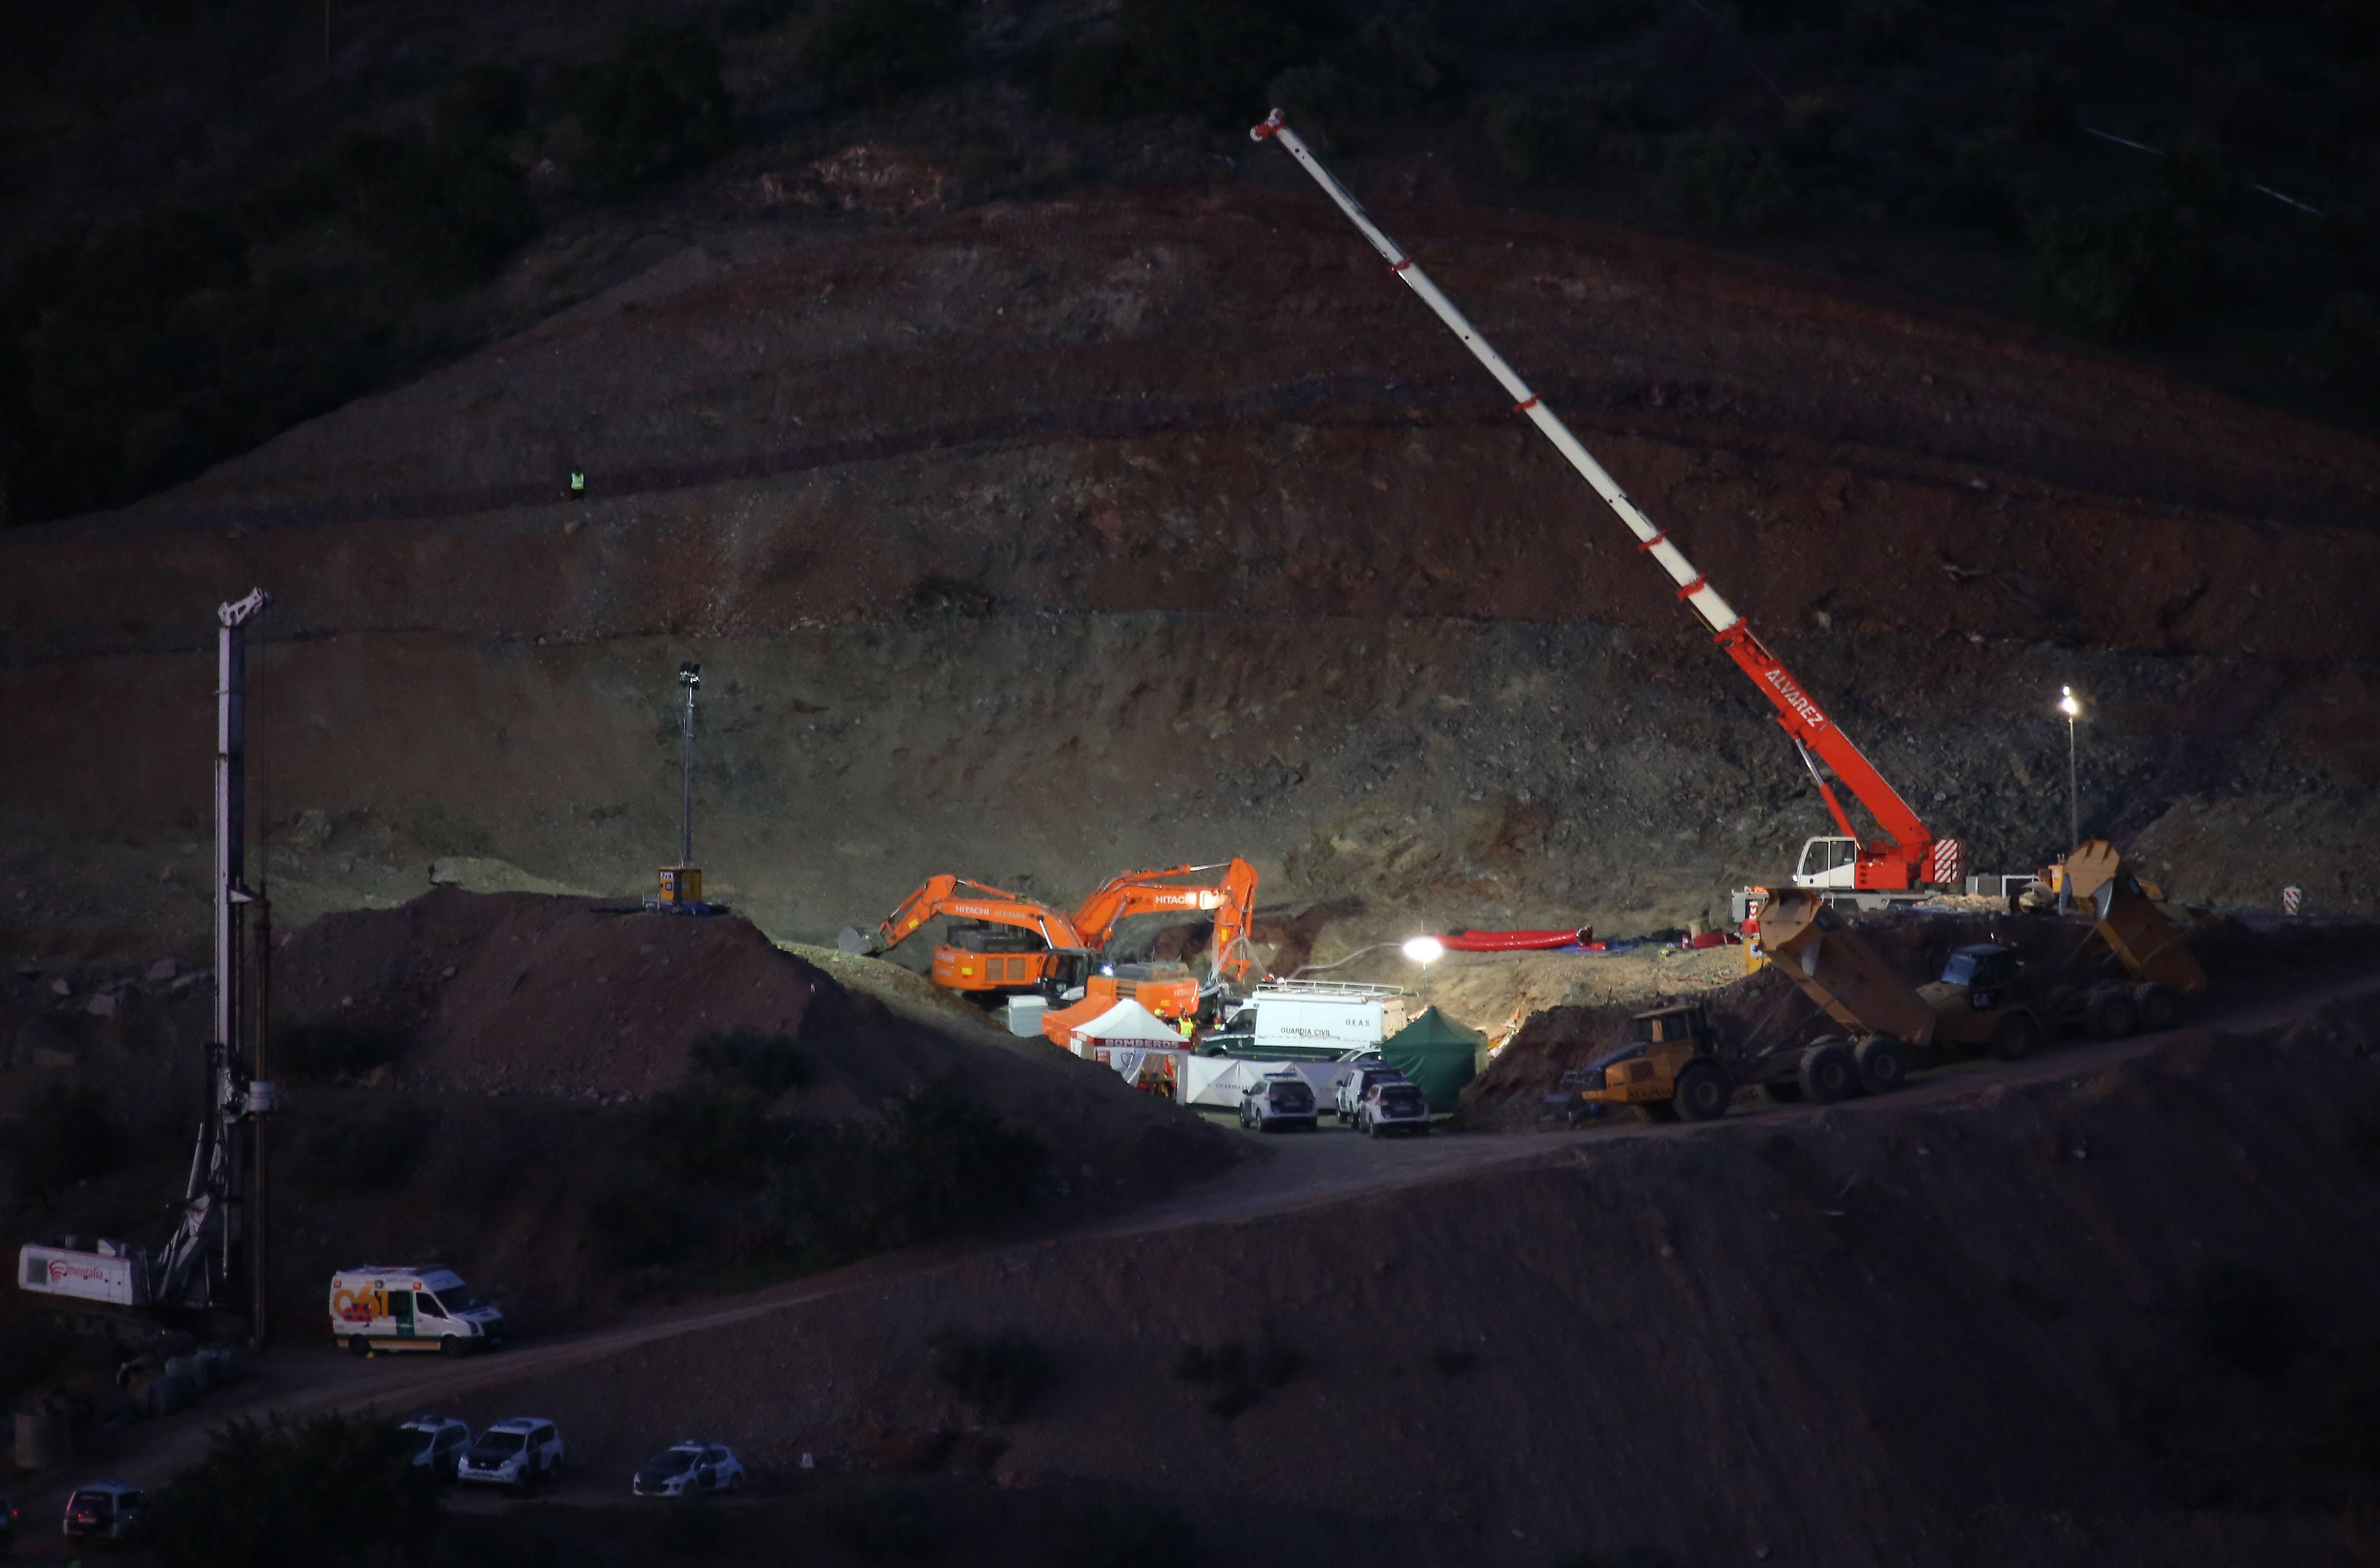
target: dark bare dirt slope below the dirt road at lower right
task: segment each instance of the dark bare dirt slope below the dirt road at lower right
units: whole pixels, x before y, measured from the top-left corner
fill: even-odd
[[[890,1463],[969,1423],[926,1335],[1016,1325],[1059,1380],[1000,1428],[1000,1482],[1128,1482],[1230,1561],[1288,1561],[1285,1509],[1388,1563],[2368,1561],[2375,1028],[2366,999],[2066,1078],[1042,1242],[476,1413],[552,1411],[590,1463],[688,1423],[788,1475]],[[1171,1371],[1190,1342],[1302,1371],[1214,1416]]]

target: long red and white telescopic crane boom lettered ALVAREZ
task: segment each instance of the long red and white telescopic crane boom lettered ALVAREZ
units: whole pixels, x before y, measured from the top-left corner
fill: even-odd
[[[1421,266],[1414,264],[1414,259],[1404,255],[1392,238],[1388,238],[1388,231],[1383,231],[1371,214],[1364,212],[1361,202],[1357,202],[1354,195],[1349,195],[1347,188],[1321,167],[1307,143],[1299,140],[1297,131],[1290,131],[1290,126],[1283,124],[1280,109],[1273,109],[1264,124],[1254,126],[1250,138],[1278,140],[1290,157],[1295,157],[1297,164],[1314,176],[1314,183],[1323,188],[1323,195],[1328,195],[1338,209],[1347,214],[1347,221],[1352,221],[1364,238],[1371,240],[1371,247],[1380,252],[1388,269],[1404,278],[1404,286],[1421,295],[1421,302],[1447,324],[1447,331],[1452,331],[1461,345],[1471,350],[1471,357],[1478,359],[1507,393],[1511,393],[1514,412],[1526,414],[1528,421],[1535,424],[1549,443],[1554,443],[1554,450],[1561,452],[1578,476],[1585,478],[1599,497],[1604,497],[1604,504],[1611,507],[1611,512],[1637,538],[1637,550],[1649,554],[1654,564],[1668,573],[1671,583],[1678,585],[1678,600],[1711,628],[1711,635],[1728,652],[1728,657],[1735,659],[1735,664],[1752,676],[1754,685],[1761,688],[1761,695],[1775,704],[1778,723],[1785,726],[1785,733],[1823,757],[1852,795],[1856,795],[1859,802],[1875,814],[1875,821],[1892,838],[1892,857],[1904,859],[1916,868],[1923,868],[1928,859],[1944,861],[1933,833],[1928,833],[1925,823],[1921,823],[1916,811],[1909,809],[1909,802],[1904,802],[1899,792],[1885,783],[1883,773],[1875,771],[1875,764],[1871,764],[1859,747],[1854,747],[1844,733],[1835,728],[1825,711],[1811,702],[1809,692],[1802,690],[1790,673],[1785,673],[1778,657],[1752,635],[1752,628],[1747,628],[1745,619],[1735,614],[1735,607],[1728,604],[1716,588],[1711,588],[1709,578],[1695,571],[1695,564],[1685,559],[1685,552],[1678,550],[1668,533],[1654,526],[1654,521],[1645,516],[1633,500],[1628,500],[1628,493],[1621,490],[1618,481],[1611,478],[1599,462],[1595,462],[1595,454],[1587,452],[1578,435],[1571,433],[1571,426],[1561,424],[1561,416],[1537,400],[1528,383],[1521,381],[1509,364],[1504,364],[1504,357],[1497,355],[1495,347],[1490,347],[1488,338],[1471,326],[1468,316],[1464,316],[1464,312],[1459,312],[1454,302],[1438,290],[1438,283],[1433,283],[1430,276],[1421,271]],[[1949,847],[1947,859],[1956,861],[1956,842],[1942,842]],[[1937,864],[1935,871],[1940,868],[1942,866]]]

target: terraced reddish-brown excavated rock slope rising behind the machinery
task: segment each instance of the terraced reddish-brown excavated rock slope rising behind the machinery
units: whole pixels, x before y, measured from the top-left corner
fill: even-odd
[[[1385,219],[1980,868],[2380,899],[2380,450],[1576,224]],[[590,500],[559,500],[569,469]],[[1645,928],[1825,830],[1766,707],[1309,190],[731,231],[126,514],[0,538],[0,942],[181,940],[214,602],[295,914],[431,861],[771,933],[1240,852],[1340,935]],[[464,878],[469,880],[469,878]]]

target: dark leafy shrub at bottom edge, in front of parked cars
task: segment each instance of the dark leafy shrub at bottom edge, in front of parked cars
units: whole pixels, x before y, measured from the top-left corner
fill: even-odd
[[[148,1494],[140,1535],[167,1568],[317,1568],[414,1561],[438,1523],[438,1480],[395,1425],[233,1418]]]

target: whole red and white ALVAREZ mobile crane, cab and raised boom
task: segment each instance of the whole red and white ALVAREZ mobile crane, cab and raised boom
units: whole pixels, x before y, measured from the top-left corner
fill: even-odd
[[[1933,830],[1918,821],[1918,814],[1909,807],[1902,795],[1885,783],[1885,776],[1875,771],[1875,764],[1861,754],[1852,738],[1842,733],[1840,726],[1818,707],[1816,697],[1809,695],[1799,680],[1785,669],[1785,664],[1768,652],[1768,647],[1752,635],[1745,619],[1730,607],[1711,581],[1695,571],[1695,564],[1685,559],[1676,540],[1668,538],[1635,502],[1621,490],[1618,481],[1604,471],[1599,462],[1587,452],[1585,445],[1571,433],[1571,426],[1561,421],[1545,402],[1528,390],[1528,383],[1514,374],[1504,357],[1488,345],[1476,326],[1438,290],[1421,266],[1397,247],[1392,238],[1371,219],[1368,212],[1347,193],[1338,178],[1314,157],[1304,140],[1285,124],[1280,109],[1273,109],[1264,124],[1250,128],[1252,140],[1278,140],[1297,164],[1314,176],[1314,183],[1323,188],[1340,212],[1371,240],[1371,247],[1380,252],[1390,271],[1404,278],[1407,288],[1421,295],[1421,302],[1438,314],[1440,321],[1461,340],[1471,357],[1478,359],[1497,383],[1511,393],[1514,412],[1526,414],[1530,424],[1561,457],[1585,478],[1604,504],[1628,531],[1637,538],[1637,550],[1649,554],[1661,571],[1671,576],[1678,585],[1678,600],[1695,611],[1702,626],[1711,633],[1718,647],[1735,659],[1735,666],[1752,678],[1752,685],[1775,707],[1778,723],[1792,738],[1802,754],[1802,766],[1809,769],[1811,780],[1818,785],[1821,799],[1825,799],[1828,814],[1840,828],[1840,838],[1814,838],[1802,847],[1802,861],[1795,868],[1797,888],[1821,890],[1828,902],[1892,902],[1894,897],[1918,897],[1918,890],[1928,883],[1959,885],[1966,876],[1966,845],[1956,838],[1935,838]],[[1868,809],[1875,826],[1883,830],[1875,838],[1861,838],[1852,828],[1849,814],[1842,809],[1842,799],[1828,785],[1818,764],[1825,764],[1835,778]]]

